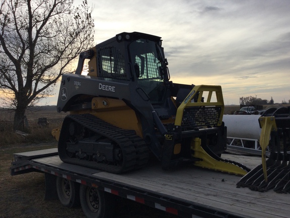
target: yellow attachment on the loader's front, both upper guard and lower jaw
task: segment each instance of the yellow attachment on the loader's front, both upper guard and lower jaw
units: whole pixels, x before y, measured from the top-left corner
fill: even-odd
[[[224,99],[221,86],[194,86],[177,109],[175,120],[176,126],[182,125],[183,112],[186,107],[200,107],[200,112],[209,107],[220,107],[221,113],[214,124],[208,124],[209,122],[206,119],[197,119],[196,117],[195,119],[196,122],[199,123],[201,129],[208,128],[209,126],[210,128],[214,128],[215,126],[223,125]],[[212,112],[212,114],[213,113],[214,112]],[[201,146],[200,138],[192,139],[191,150],[193,151],[192,157],[198,159],[197,161],[194,161],[195,166],[242,176],[250,171],[250,169],[241,163],[219,157],[207,146],[204,146],[203,148]]]

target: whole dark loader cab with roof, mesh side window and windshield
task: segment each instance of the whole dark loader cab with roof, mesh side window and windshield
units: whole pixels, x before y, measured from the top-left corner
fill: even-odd
[[[176,113],[170,99],[170,75],[161,37],[123,32],[98,44],[94,53],[89,62],[89,76],[118,83],[137,83],[161,117]]]

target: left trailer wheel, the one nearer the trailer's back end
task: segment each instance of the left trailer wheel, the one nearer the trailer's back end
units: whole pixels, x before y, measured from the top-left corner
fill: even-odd
[[[63,206],[69,208],[80,206],[80,185],[78,183],[57,177],[56,191]]]

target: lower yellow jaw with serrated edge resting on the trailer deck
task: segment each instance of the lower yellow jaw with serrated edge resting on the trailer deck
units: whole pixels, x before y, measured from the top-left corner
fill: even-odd
[[[224,162],[211,157],[201,147],[201,139],[194,138],[191,142],[191,149],[194,150],[193,157],[199,158],[200,161],[195,161],[194,165],[197,167],[207,168],[210,170],[226,172],[239,176],[244,176],[248,172],[230,162]]]

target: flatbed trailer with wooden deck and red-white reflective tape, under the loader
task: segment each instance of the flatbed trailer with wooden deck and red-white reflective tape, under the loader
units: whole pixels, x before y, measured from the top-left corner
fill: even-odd
[[[253,156],[222,154],[222,157],[251,169],[261,162]],[[11,175],[29,172],[45,173],[46,200],[58,196],[56,183],[61,178],[69,184],[94,187],[109,195],[103,204],[108,210],[113,207],[112,196],[117,195],[184,218],[290,216],[287,194],[237,188],[240,177],[193,166],[163,171],[154,159],[146,168],[118,175],[64,163],[56,148],[14,154]]]

